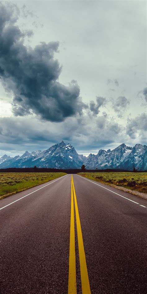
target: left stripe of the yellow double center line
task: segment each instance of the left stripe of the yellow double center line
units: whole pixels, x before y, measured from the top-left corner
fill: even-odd
[[[77,294],[76,255],[75,255],[75,231],[74,231],[74,207],[73,207],[73,185],[72,185],[72,178],[71,178],[71,215],[70,215],[68,294],[69,293],[71,293],[71,294]]]

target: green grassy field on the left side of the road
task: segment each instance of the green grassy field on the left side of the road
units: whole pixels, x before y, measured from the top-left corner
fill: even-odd
[[[64,175],[64,172],[0,173],[0,199]]]

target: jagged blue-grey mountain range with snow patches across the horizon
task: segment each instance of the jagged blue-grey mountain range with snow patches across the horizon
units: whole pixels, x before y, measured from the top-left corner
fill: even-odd
[[[136,144],[128,147],[125,144],[110,150],[100,149],[98,154],[88,157],[78,154],[71,144],[64,141],[51,146],[45,151],[26,151],[22,156],[10,157],[6,154],[0,158],[0,168],[46,167],[46,168],[80,168],[85,164],[86,169],[126,169],[147,170],[147,146]]]

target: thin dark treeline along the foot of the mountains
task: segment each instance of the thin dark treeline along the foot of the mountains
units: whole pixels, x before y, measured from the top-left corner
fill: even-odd
[[[38,168],[38,167],[25,167],[25,168],[17,168],[17,167],[11,167],[11,168],[1,168],[0,172],[66,172],[67,174],[77,174],[78,172],[83,171],[83,169],[57,169],[57,168]],[[126,172],[127,170],[124,169],[85,169],[84,172]],[[128,171],[132,172],[132,171]],[[147,172],[147,171],[138,171],[137,172]]]

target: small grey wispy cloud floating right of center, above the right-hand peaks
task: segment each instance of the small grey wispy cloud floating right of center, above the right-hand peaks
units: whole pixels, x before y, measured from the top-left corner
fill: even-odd
[[[130,101],[125,96],[119,96],[115,101],[112,100],[113,109],[118,114],[119,118],[122,118],[123,112],[126,110]]]

